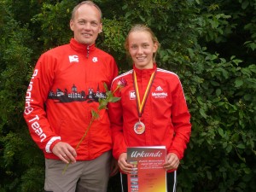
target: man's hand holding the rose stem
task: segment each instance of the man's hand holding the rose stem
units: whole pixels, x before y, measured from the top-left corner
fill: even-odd
[[[65,163],[76,162],[77,152],[68,143],[64,143],[64,142],[56,143],[55,147],[52,149],[52,153],[58,156],[60,160],[62,160]]]

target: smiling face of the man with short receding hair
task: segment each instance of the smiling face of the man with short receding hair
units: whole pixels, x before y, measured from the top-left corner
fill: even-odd
[[[77,9],[70,28],[74,39],[80,44],[95,44],[98,34],[102,32],[101,14],[96,7],[83,4]]]

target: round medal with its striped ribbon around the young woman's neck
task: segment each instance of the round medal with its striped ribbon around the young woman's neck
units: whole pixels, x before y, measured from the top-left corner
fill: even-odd
[[[149,93],[151,85],[153,84],[153,81],[154,81],[154,75],[155,75],[155,72],[151,74],[151,77],[150,77],[149,82],[148,82],[147,89],[146,89],[146,91],[144,93],[144,96],[143,96],[143,101],[141,102],[139,91],[138,91],[138,86],[137,86],[136,72],[133,71],[133,85],[134,85],[134,88],[135,88],[135,95],[136,95],[136,100],[137,100],[137,113],[138,113],[138,116],[139,116],[139,121],[134,125],[133,128],[134,128],[134,131],[138,135],[143,134],[143,132],[145,131],[145,128],[146,128],[145,125],[143,124],[143,122],[140,120],[140,118],[142,117],[143,109],[144,109],[145,103],[146,103],[147,98],[148,98],[148,93]]]

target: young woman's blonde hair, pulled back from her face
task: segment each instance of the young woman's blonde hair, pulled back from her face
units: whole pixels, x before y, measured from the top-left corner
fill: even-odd
[[[155,37],[154,32],[152,32],[152,30],[148,26],[145,26],[143,24],[136,24],[131,27],[131,30],[130,30],[130,32],[128,32],[128,35],[125,39],[125,50],[127,52],[127,55],[129,55],[129,35],[131,32],[148,32],[152,38],[153,43],[157,44],[158,47],[160,47],[160,43],[157,40],[157,38]],[[153,61],[155,61],[156,52],[153,54]]]

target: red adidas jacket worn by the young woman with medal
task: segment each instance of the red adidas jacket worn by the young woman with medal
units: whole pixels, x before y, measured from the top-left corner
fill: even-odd
[[[143,134],[137,134],[134,130],[139,117],[133,70],[137,74],[141,101],[151,74],[156,71],[141,117],[146,127]],[[112,83],[111,90],[115,90],[120,83],[126,84],[114,93],[114,96],[121,97],[121,100],[108,103],[114,158],[118,160],[127,147],[164,145],[167,153],[175,153],[182,159],[189,142],[191,124],[182,84],[177,74],[157,68],[156,64],[153,69],[139,70],[133,67],[133,70],[119,75]]]

